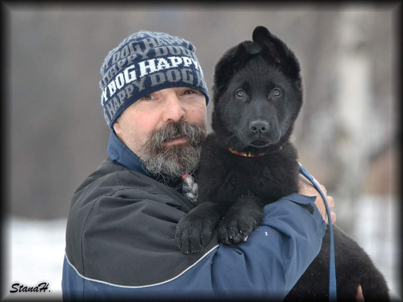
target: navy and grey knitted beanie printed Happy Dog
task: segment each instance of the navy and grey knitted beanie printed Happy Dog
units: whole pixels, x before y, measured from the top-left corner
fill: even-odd
[[[140,31],[124,39],[101,67],[101,105],[109,127],[138,99],[170,87],[209,93],[190,42],[165,33]]]

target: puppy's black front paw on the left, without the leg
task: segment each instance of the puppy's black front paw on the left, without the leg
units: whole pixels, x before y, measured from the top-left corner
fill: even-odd
[[[214,224],[208,217],[189,213],[176,227],[175,240],[182,253],[192,254],[203,250],[211,241]]]

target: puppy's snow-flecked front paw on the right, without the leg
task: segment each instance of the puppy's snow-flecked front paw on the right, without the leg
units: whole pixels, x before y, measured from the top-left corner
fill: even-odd
[[[226,216],[218,225],[218,239],[226,245],[241,244],[256,227],[257,222],[252,218],[237,219]]]

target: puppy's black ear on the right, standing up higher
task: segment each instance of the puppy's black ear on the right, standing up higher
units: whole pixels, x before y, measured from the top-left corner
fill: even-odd
[[[292,78],[300,77],[300,66],[294,53],[287,45],[273,35],[264,26],[257,26],[252,34],[253,42],[263,47],[262,52],[268,52],[270,57],[280,64],[284,71]]]

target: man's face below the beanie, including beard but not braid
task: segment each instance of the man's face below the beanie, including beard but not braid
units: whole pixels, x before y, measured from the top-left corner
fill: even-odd
[[[206,97],[188,87],[153,92],[127,107],[113,129],[151,172],[182,176],[198,164],[207,129]]]

